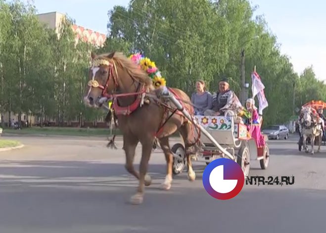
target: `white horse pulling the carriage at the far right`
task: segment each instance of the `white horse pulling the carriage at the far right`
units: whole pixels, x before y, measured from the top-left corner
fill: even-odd
[[[312,116],[312,109],[310,107],[302,108],[301,113],[303,117],[300,120],[301,123],[301,135],[303,138],[303,148],[306,153],[308,153],[308,148],[306,145],[306,140],[309,137],[311,139],[311,154],[314,155],[314,145],[315,139],[318,137],[318,151],[320,152],[322,137],[323,137],[323,129],[321,126],[321,119],[317,121],[317,118]]]

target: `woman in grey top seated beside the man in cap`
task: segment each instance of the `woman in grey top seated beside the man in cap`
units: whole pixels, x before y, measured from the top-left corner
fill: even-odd
[[[191,102],[194,105],[195,115],[203,116],[204,112],[212,108],[212,95],[206,91],[205,82],[198,80],[196,82],[196,93],[192,93]]]

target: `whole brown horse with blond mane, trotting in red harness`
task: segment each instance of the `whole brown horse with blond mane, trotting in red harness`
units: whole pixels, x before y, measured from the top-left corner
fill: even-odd
[[[169,146],[169,137],[177,131],[182,135],[185,143],[188,179],[195,180],[195,172],[189,156],[193,153],[192,147],[198,142],[193,124],[178,112],[173,112],[171,116],[173,105],[157,98],[152,79],[124,54],[113,52],[94,55],[92,53],[92,59],[93,66],[89,71],[90,81],[84,101],[86,105],[98,108],[103,96],[114,97],[113,109],[123,133],[125,167],[129,173],[139,179],[137,193],[131,197],[131,202],[142,203],[144,185],[149,186],[151,183],[147,167],[155,137],[158,138],[167,163],[166,178],[162,188],[165,190],[171,188],[173,154]],[[191,102],[185,92],[174,88],[170,90],[178,98]],[[144,99],[145,101],[142,101]],[[184,104],[184,107],[193,115],[191,105]],[[142,145],[142,155],[138,173],[134,169],[133,162],[139,142]]]

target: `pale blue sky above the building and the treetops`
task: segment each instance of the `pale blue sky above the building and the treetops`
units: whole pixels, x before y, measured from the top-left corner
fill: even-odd
[[[27,1],[27,0],[25,0]],[[107,33],[107,11],[129,0],[34,0],[39,13],[67,13],[78,25]],[[326,80],[326,1],[251,0],[259,5],[270,30],[278,37],[281,52],[290,57],[294,71],[312,65],[317,78]],[[257,67],[259,72],[259,67]]]

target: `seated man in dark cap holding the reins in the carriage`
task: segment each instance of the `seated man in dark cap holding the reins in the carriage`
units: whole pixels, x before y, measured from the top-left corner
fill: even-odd
[[[243,107],[235,95],[230,90],[229,80],[222,78],[219,82],[219,91],[216,94],[216,98],[213,98],[213,107],[210,110],[205,111],[206,116],[219,116],[224,115],[227,110],[231,110],[237,115],[239,110]]]

